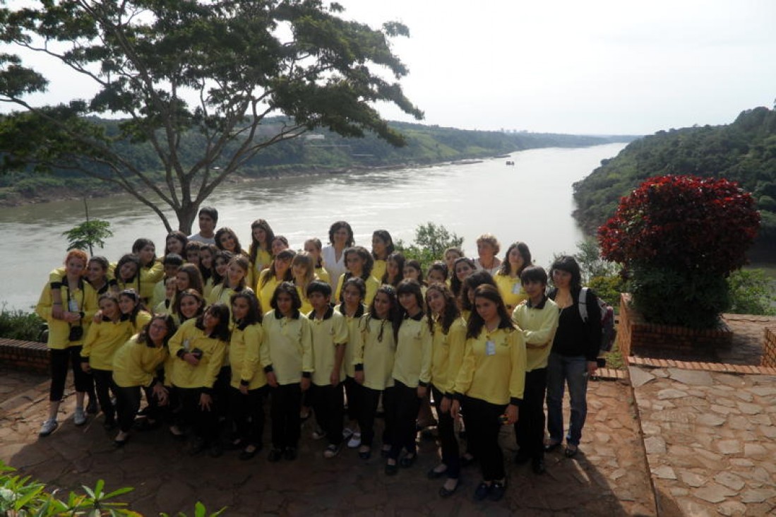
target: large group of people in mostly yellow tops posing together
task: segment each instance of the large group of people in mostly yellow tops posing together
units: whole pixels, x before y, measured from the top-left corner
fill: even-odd
[[[580,271],[573,258],[553,264],[553,302],[545,292],[546,273],[531,265],[528,246],[515,242],[498,259],[500,245],[490,234],[477,240],[477,259],[450,248],[426,276],[418,262],[394,249],[389,232],[375,231],[369,252],[355,246],[345,221],[331,226],[330,245],[312,238],[300,253],[265,220],[251,225],[251,238],[245,251],[229,228],[215,232],[216,245],[173,232],[162,259],[155,258],[151,241],[138,239],[113,272],[101,257],[69,252],[37,307],[49,321],[52,352],[50,414],[40,435],[57,428],[72,363],[74,423],[85,422],[85,394],[95,383],[106,428],[119,427],[117,446],[130,439],[133,427],[165,422],[181,439],[192,429],[191,453],[208,449],[219,456],[226,422],[226,445],[249,460],[262,449],[269,395],[270,461],[296,458],[310,405],[318,423],[314,438],[329,442],[325,457],[339,453],[346,435],[348,446],[367,460],[382,401],[379,452],[385,473],[394,475],[417,458],[416,422],[431,394],[442,461],[428,477],[445,477],[439,494],[449,497],[461,468],[476,459],[483,481],[475,497],[498,500],[505,490],[501,425],[517,425],[518,407],[524,395],[530,398],[531,416],[524,418],[530,429],[516,428],[518,459],[532,460],[541,474],[544,451],[563,442],[567,383],[572,418],[565,451],[577,452],[586,414],[583,373],[594,370],[598,354],[589,323],[598,318],[590,314],[583,321],[577,310]],[[531,328],[530,311],[527,319],[518,314],[537,307],[552,309],[541,329]],[[587,307],[592,313],[597,304]],[[148,407],[136,420],[143,390]],[[463,454],[455,434],[460,416],[468,436]]]

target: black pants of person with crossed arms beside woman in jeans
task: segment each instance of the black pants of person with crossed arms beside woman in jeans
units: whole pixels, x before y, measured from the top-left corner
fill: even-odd
[[[514,437],[521,456],[540,460],[544,457],[544,394],[547,390],[547,369],[525,373],[525,392],[520,404]]]

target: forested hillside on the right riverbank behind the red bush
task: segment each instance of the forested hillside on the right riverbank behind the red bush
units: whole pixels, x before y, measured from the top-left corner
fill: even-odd
[[[631,142],[620,154],[574,184],[574,215],[587,230],[614,214],[620,197],[644,179],[692,174],[740,182],[753,193],[762,225],[754,254],[774,260],[776,251],[776,111],[764,107],[742,112],[725,126],[658,131]],[[770,256],[769,256],[770,255]]]

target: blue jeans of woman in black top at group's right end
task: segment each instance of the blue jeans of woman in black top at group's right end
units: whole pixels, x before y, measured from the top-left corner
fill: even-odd
[[[587,417],[587,359],[584,356],[549,355],[547,363],[547,430],[553,442],[563,441],[563,388],[568,384],[571,421],[566,443],[578,446]]]

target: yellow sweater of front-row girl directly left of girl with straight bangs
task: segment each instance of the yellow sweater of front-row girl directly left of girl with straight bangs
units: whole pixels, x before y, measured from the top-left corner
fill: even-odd
[[[382,391],[393,386],[393,357],[396,340],[389,320],[379,320],[364,314],[359,320],[359,331],[354,336],[353,364],[355,370],[363,370],[364,386]]]

